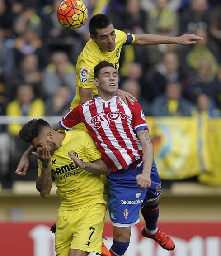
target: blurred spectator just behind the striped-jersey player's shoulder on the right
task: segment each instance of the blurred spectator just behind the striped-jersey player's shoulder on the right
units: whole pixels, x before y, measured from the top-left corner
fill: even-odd
[[[151,114],[150,104],[141,96],[141,86],[136,80],[127,79],[122,83],[122,90],[132,94],[140,103],[145,116]]]

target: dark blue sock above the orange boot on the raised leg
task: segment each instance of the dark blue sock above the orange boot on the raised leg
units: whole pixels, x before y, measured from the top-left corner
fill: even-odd
[[[159,203],[151,206],[144,206],[143,208],[141,208],[141,213],[144,217],[145,225],[149,230],[155,230],[157,228],[157,221],[159,217]]]

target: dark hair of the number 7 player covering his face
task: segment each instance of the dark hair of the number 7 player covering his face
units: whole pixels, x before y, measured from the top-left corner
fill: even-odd
[[[22,140],[24,140],[24,142],[31,143],[34,138],[38,137],[45,127],[51,126],[42,118],[35,118],[22,126],[21,130],[19,131],[19,136],[22,138]]]

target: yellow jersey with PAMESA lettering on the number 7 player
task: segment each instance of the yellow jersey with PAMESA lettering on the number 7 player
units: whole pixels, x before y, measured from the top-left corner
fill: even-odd
[[[85,162],[101,158],[94,140],[85,131],[65,132],[61,147],[51,156],[51,172],[55,177],[56,193],[61,198],[58,211],[84,208],[96,203],[106,203],[103,199],[103,182],[99,174],[93,174],[75,165],[68,155],[71,151]],[[38,161],[38,176],[41,175]]]

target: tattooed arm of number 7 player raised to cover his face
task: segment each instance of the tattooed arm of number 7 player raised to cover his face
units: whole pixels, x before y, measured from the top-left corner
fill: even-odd
[[[42,162],[42,172],[36,179],[36,188],[42,197],[47,198],[52,189],[51,155],[47,147],[42,147],[32,153]]]

